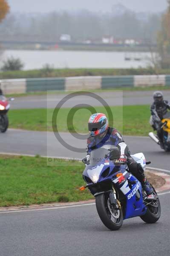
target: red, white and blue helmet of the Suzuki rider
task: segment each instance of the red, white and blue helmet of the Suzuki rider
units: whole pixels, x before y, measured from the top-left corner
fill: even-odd
[[[95,113],[89,118],[89,133],[91,136],[97,136],[107,131],[109,123],[105,114]]]

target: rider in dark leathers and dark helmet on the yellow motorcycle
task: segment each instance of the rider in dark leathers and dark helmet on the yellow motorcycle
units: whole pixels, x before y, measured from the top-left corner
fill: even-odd
[[[153,100],[154,102],[150,107],[150,125],[153,127],[155,131],[157,131],[157,136],[160,141],[160,145],[161,147],[163,147],[163,131],[161,128],[161,120],[167,113],[168,109],[170,110],[170,102],[164,100],[163,93],[160,91],[156,91],[153,93]]]

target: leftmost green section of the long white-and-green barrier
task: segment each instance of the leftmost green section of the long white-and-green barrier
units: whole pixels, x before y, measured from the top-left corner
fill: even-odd
[[[65,90],[65,78],[26,79],[26,91]]]

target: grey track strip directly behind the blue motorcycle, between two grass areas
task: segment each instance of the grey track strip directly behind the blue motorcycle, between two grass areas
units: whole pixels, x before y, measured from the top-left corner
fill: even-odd
[[[84,149],[83,153],[77,153],[65,148],[56,139],[53,132],[26,131],[9,129],[5,134],[0,134],[3,148],[0,152],[18,154],[39,154],[49,157],[76,157],[83,158],[86,155],[86,140],[79,140],[69,133],[60,133],[63,140],[69,145]],[[164,152],[149,137],[124,136],[129,145],[131,154],[143,152],[147,161],[151,161],[152,167],[170,169],[170,153]],[[79,149],[78,149],[79,151]]]

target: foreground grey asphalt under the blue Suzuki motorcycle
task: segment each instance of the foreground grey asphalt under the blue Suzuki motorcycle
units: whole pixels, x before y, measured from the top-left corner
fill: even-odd
[[[160,195],[161,218],[125,220],[118,231],[101,223],[95,205],[0,213],[2,256],[169,256],[170,194]]]

